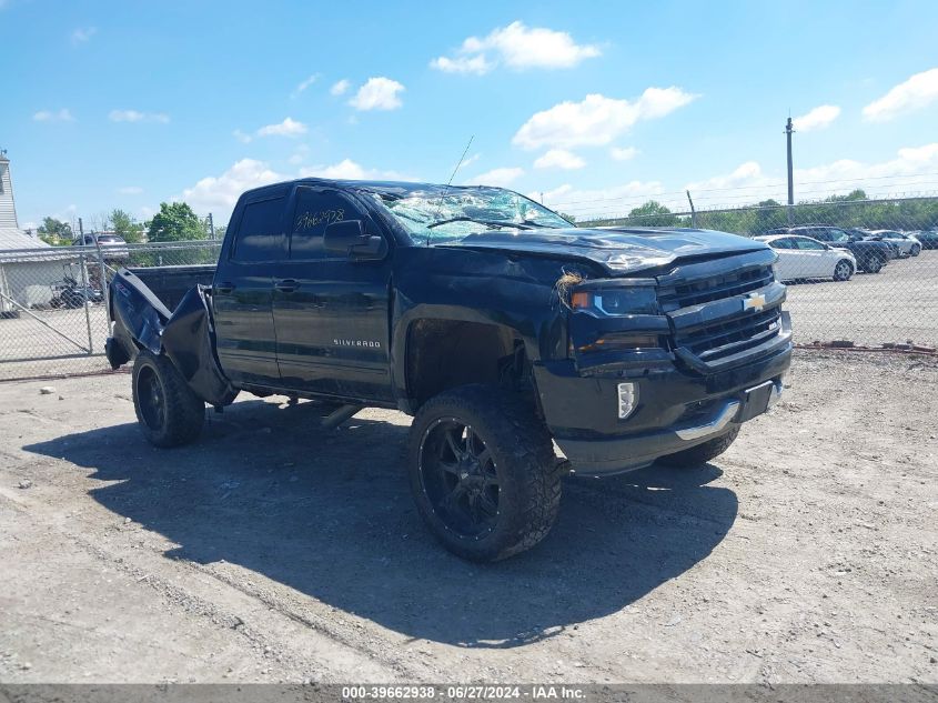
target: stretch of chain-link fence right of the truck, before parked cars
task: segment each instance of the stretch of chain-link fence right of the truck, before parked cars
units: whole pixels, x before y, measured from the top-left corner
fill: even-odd
[[[578,224],[696,227],[770,238],[776,271],[788,283],[796,342],[938,347],[938,198],[662,210]]]

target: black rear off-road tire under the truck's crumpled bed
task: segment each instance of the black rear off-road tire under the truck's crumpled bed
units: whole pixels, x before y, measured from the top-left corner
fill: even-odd
[[[141,405],[147,401],[148,389],[153,384],[160,393],[159,420]],[[167,358],[141,350],[133,362],[133,409],[143,436],[157,446],[180,446],[188,444],[202,431],[205,422],[205,403],[192,392],[185,379]]]

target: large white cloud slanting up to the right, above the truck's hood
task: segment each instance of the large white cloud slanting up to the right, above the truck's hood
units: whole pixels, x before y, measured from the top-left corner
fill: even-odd
[[[696,98],[674,86],[648,88],[635,101],[592,93],[581,102],[565,101],[534,113],[512,143],[523,149],[602,147],[637,121],[664,117]]]

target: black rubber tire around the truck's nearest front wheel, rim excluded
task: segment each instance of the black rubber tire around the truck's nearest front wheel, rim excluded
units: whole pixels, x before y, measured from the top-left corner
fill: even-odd
[[[424,488],[424,439],[441,420],[470,425],[492,453],[498,474],[495,526],[482,538],[463,536],[446,526]],[[557,519],[562,476],[551,435],[534,409],[516,393],[491,385],[464,385],[427,401],[411,425],[407,451],[411,491],[417,511],[443,545],[471,561],[494,562],[531,549]]]

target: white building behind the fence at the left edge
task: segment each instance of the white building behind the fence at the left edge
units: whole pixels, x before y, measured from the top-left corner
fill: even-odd
[[[16,312],[12,301],[26,308],[51,302],[52,287],[62,281],[64,267],[74,260],[73,254],[53,249],[20,229],[10,160],[0,151],[0,313]]]

